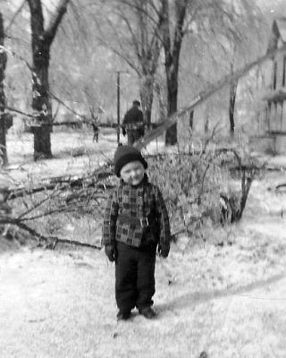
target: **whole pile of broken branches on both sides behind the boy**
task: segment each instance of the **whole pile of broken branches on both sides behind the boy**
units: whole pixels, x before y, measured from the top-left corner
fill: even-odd
[[[249,159],[242,162],[237,151],[230,148],[164,153],[149,156],[148,162],[152,182],[163,189],[173,236],[181,232],[193,235],[194,227],[197,230],[198,223],[201,225],[206,218],[214,223],[240,220],[251,183],[262,168]],[[240,195],[231,197],[225,190],[223,171],[240,177]],[[57,243],[70,243],[99,249],[98,245],[58,237],[51,233],[50,226],[62,228],[63,225],[55,225],[59,217],[63,224],[67,217],[77,220],[90,217],[100,226],[106,194],[116,181],[112,166],[107,163],[90,175],[46,178],[29,187],[11,189],[5,203],[13,202],[13,211],[0,215],[0,225],[17,226],[39,244],[45,243],[51,248]],[[46,234],[38,231],[40,226]]]

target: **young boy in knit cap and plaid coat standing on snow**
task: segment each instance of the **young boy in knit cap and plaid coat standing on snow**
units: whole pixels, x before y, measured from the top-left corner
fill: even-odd
[[[147,162],[138,149],[121,146],[114,154],[114,171],[121,178],[107,200],[103,244],[115,262],[117,320],[128,320],[137,307],[147,319],[155,294],[156,247],[166,258],[170,251],[170,224],[164,199],[148,182]]]

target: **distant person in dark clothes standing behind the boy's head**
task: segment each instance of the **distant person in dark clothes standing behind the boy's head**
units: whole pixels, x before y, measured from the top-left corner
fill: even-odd
[[[133,106],[126,112],[122,122],[122,134],[125,136],[127,132],[129,145],[144,136],[143,113],[139,107],[139,100],[134,100]]]

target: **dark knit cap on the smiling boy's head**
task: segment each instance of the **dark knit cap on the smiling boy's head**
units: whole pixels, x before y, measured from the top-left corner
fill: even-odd
[[[147,169],[147,161],[142,157],[138,149],[128,145],[122,145],[118,147],[114,154],[115,175],[120,177],[120,171],[122,170],[122,167],[130,162],[137,160],[143,164],[145,169]]]

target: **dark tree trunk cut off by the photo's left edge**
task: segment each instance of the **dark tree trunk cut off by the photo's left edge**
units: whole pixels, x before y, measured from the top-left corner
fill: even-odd
[[[0,13],[0,45],[4,46],[4,23],[2,13]],[[6,68],[7,55],[4,51],[0,52],[0,161],[6,165],[6,125],[5,125],[5,95],[4,95],[4,72]]]

